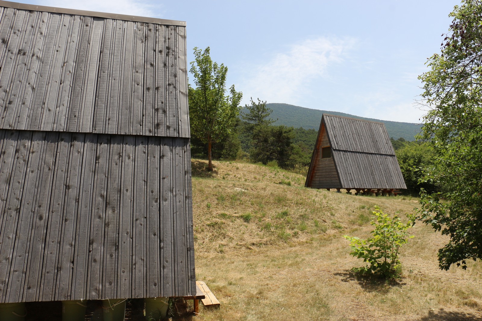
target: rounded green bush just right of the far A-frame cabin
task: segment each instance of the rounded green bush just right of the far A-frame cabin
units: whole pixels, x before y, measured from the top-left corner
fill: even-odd
[[[435,154],[433,148],[427,143],[407,142],[395,150],[403,179],[408,192],[419,195],[420,189],[430,193],[435,192],[436,186],[432,182],[424,180],[423,170],[432,166]]]

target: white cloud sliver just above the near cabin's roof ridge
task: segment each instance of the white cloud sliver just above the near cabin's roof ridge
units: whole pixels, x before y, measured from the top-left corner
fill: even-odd
[[[106,13],[161,17],[161,4],[140,0],[41,0],[40,5]]]

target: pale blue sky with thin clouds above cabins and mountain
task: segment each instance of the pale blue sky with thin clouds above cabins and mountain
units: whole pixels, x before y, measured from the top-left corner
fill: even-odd
[[[459,1],[25,0],[187,22],[192,48],[228,66],[228,87],[268,103],[420,122],[417,76]]]

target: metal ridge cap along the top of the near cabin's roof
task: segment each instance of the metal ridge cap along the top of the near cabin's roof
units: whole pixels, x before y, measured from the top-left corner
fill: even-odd
[[[36,4],[27,4],[27,3],[11,2],[11,1],[4,1],[4,0],[0,0],[0,6],[13,8],[13,9],[19,9],[19,10],[31,10],[31,11],[43,11],[43,12],[51,12],[51,13],[77,14],[77,15],[84,15],[84,16],[107,18],[107,19],[118,19],[118,20],[127,20],[127,21],[135,21],[135,22],[146,22],[146,23],[152,23],[152,24],[157,24],[157,25],[186,26],[186,21],[140,17],[140,16],[128,15],[128,14],[102,13],[102,12],[86,11],[86,10],[78,10],[78,9],[47,7],[47,6],[40,6],[40,5],[36,5]]]

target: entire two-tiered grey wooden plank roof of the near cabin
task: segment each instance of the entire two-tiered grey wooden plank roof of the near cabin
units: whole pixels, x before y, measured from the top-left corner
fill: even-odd
[[[186,23],[0,0],[0,303],[195,295]]]

